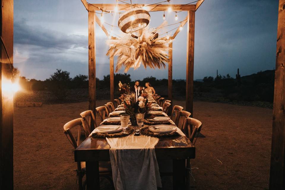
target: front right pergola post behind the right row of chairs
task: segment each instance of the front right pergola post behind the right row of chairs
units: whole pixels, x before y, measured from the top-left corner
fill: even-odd
[[[194,72],[195,11],[188,12],[187,59],[186,59],[186,111],[193,117],[193,72]]]

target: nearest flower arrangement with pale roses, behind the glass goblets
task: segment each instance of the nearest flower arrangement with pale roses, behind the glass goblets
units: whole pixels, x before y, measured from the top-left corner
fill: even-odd
[[[143,93],[137,100],[133,92],[124,94],[124,97],[124,111],[130,115],[132,125],[136,125],[136,113],[145,113],[145,118],[151,116],[149,111],[152,110],[152,102],[148,102],[147,93]]]

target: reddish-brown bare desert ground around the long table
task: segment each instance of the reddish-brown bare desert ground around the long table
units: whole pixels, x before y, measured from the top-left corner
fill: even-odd
[[[97,101],[97,106],[108,100]],[[185,106],[183,101],[174,105]],[[77,189],[73,147],[63,125],[88,109],[88,102],[15,107],[14,189]],[[194,102],[203,123],[191,161],[192,189],[269,189],[272,110]],[[164,189],[172,189],[163,178]],[[100,179],[101,189],[111,189]]]

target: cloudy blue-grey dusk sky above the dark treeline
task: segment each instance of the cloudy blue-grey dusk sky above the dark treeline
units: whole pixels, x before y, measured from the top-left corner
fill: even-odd
[[[115,3],[115,0],[88,2]],[[184,20],[186,14],[179,12],[178,21]],[[162,15],[163,12],[152,12],[150,26],[159,26]],[[177,22],[174,17],[174,12],[166,12],[168,24]],[[105,15],[104,19],[113,25],[118,23],[118,15]],[[235,76],[238,68],[242,76],[273,69],[277,19],[278,0],[205,0],[195,15],[194,79],[215,76],[217,69],[219,74],[231,76]],[[169,26],[165,31],[175,27]],[[111,29],[108,25],[106,28]],[[186,29],[184,26],[173,42],[174,79],[186,78]],[[116,29],[114,33],[121,35]],[[110,73],[109,59],[105,56],[106,39],[96,25],[96,77],[99,79]],[[88,13],[81,1],[14,0],[14,63],[21,75],[29,79],[45,80],[56,69],[70,72],[71,77],[88,75]],[[128,73],[132,80],[151,75],[167,78],[167,69],[139,68]]]

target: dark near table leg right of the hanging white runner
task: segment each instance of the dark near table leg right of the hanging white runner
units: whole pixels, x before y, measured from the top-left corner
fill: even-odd
[[[173,159],[173,189],[186,188],[185,159]]]

